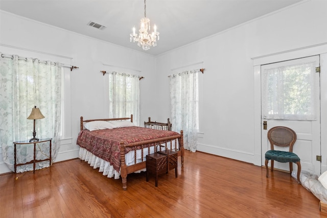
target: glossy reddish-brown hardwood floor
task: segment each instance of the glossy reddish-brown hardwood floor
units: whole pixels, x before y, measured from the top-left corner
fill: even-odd
[[[319,200],[289,174],[201,152],[184,167],[146,182],[102,176],[79,159],[33,174],[0,176],[0,217],[327,217]]]

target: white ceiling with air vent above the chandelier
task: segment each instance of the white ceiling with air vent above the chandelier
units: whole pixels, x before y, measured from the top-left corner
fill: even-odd
[[[62,29],[159,55],[302,0],[148,0],[147,17],[160,40],[143,51],[130,42],[144,17],[143,0],[0,0],[0,10]],[[104,30],[87,26],[94,21]]]

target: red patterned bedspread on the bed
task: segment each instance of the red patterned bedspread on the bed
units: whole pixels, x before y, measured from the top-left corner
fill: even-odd
[[[144,127],[123,127],[105,130],[82,130],[77,137],[77,144],[96,155],[110,162],[113,168],[119,172],[121,166],[120,142],[125,144],[145,141],[168,136],[179,135],[177,132],[155,130]],[[125,148],[125,153],[132,148]]]

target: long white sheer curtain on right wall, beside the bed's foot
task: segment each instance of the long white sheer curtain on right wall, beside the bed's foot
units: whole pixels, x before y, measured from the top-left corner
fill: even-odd
[[[192,152],[197,148],[199,123],[198,72],[192,70],[170,75],[172,129],[183,130],[184,147]]]

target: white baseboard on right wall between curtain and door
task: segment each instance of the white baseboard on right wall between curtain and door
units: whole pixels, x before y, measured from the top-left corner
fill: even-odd
[[[221,157],[227,157],[235,160],[240,160],[247,163],[253,163],[254,165],[261,166],[261,154],[256,155],[244,151],[220,148],[220,147],[212,146],[210,144],[203,144],[203,143],[197,144],[197,151],[214,154]]]

